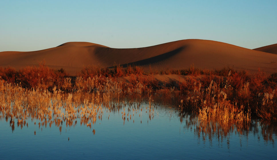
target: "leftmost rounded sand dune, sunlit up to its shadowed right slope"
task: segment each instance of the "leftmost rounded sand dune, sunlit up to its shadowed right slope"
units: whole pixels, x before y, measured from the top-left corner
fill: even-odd
[[[51,68],[64,68],[76,75],[84,66],[100,64],[94,54],[95,48],[106,47],[89,42],[68,42],[60,46],[32,52],[0,52],[0,66],[20,69],[39,66],[45,62]]]

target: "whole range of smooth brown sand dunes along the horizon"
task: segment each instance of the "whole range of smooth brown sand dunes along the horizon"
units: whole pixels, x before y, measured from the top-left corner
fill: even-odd
[[[68,42],[32,52],[0,52],[0,66],[38,66],[42,61],[54,69],[64,68],[76,75],[84,66],[112,67],[140,65],[145,69],[184,69],[194,65],[202,69],[231,67],[250,72],[277,72],[276,46],[254,50],[227,43],[188,39],[144,48],[116,49],[89,42]],[[263,52],[261,52],[263,51]],[[269,53],[267,53],[269,52]]]

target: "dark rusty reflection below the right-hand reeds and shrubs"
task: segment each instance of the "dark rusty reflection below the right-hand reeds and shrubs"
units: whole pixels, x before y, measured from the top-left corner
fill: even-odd
[[[195,136],[203,143],[223,143],[226,140],[226,146],[229,149],[230,139],[232,136],[249,139],[250,136],[256,136],[257,140],[261,139],[266,143],[274,145],[277,140],[277,124],[264,120],[252,120],[247,124],[219,123],[217,121],[200,121],[197,116],[183,114],[185,120],[184,128],[193,130]],[[183,121],[183,120],[181,120]],[[216,141],[216,142],[214,142]]]

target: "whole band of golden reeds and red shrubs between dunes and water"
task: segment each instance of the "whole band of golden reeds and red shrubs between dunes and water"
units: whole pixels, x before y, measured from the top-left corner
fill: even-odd
[[[163,74],[187,76],[187,81],[159,84],[147,78],[138,66],[113,69],[85,67],[78,77],[45,65],[26,67],[20,71],[0,68],[1,117],[14,124],[25,125],[26,119],[39,120],[39,126],[60,121],[93,125],[106,111],[149,101],[171,103],[180,114],[196,114],[200,122],[248,124],[251,118],[276,120],[277,74],[249,74],[232,69],[200,70],[191,67]],[[120,77],[129,76],[128,82]],[[149,109],[148,108],[148,109]],[[134,109],[138,112],[138,108]],[[127,115],[127,116],[126,116]],[[139,115],[140,116],[140,115]],[[122,119],[129,114],[122,112]],[[131,117],[130,117],[131,119]],[[53,121],[54,120],[54,121]],[[36,123],[36,122],[34,122]]]

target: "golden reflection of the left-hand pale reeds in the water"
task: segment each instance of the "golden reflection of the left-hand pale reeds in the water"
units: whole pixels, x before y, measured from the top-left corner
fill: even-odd
[[[151,100],[151,97],[149,100]],[[10,107],[9,109],[11,110],[3,110],[3,112],[0,112],[0,114],[2,114],[0,120],[2,120],[2,117],[5,117],[6,122],[9,121],[12,133],[15,130],[15,124],[17,125],[17,128],[22,129],[23,126],[28,128],[28,121],[30,121],[29,123],[32,123],[35,127],[37,126],[38,130],[41,131],[43,130],[43,127],[47,128],[48,126],[51,128],[54,124],[55,127],[59,128],[60,134],[62,134],[63,123],[66,124],[66,128],[71,126],[75,128],[79,121],[80,126],[87,126],[91,129],[97,120],[102,121],[103,114],[105,114],[105,117],[109,120],[110,114],[121,113],[123,125],[125,124],[125,121],[134,123],[135,117],[139,117],[140,123],[142,123],[143,116],[147,121],[152,120],[155,117],[155,108],[157,108],[157,106],[151,106],[150,101],[122,101],[120,104],[111,103],[109,106],[94,105],[88,101],[84,101],[84,105],[80,106],[76,106],[76,104],[73,103],[72,106],[66,104],[59,108],[53,108],[51,111],[53,114],[50,116],[48,113],[49,110],[43,110],[43,108],[40,107]],[[14,110],[17,112],[16,115],[11,114]],[[70,112],[68,112],[69,110]],[[18,115],[18,113],[23,112],[23,116]],[[37,112],[40,114],[37,114]],[[156,113],[158,114],[157,111]],[[147,115],[146,118],[145,115]],[[92,132],[95,135],[94,129]],[[36,130],[34,131],[34,135],[36,135]]]

